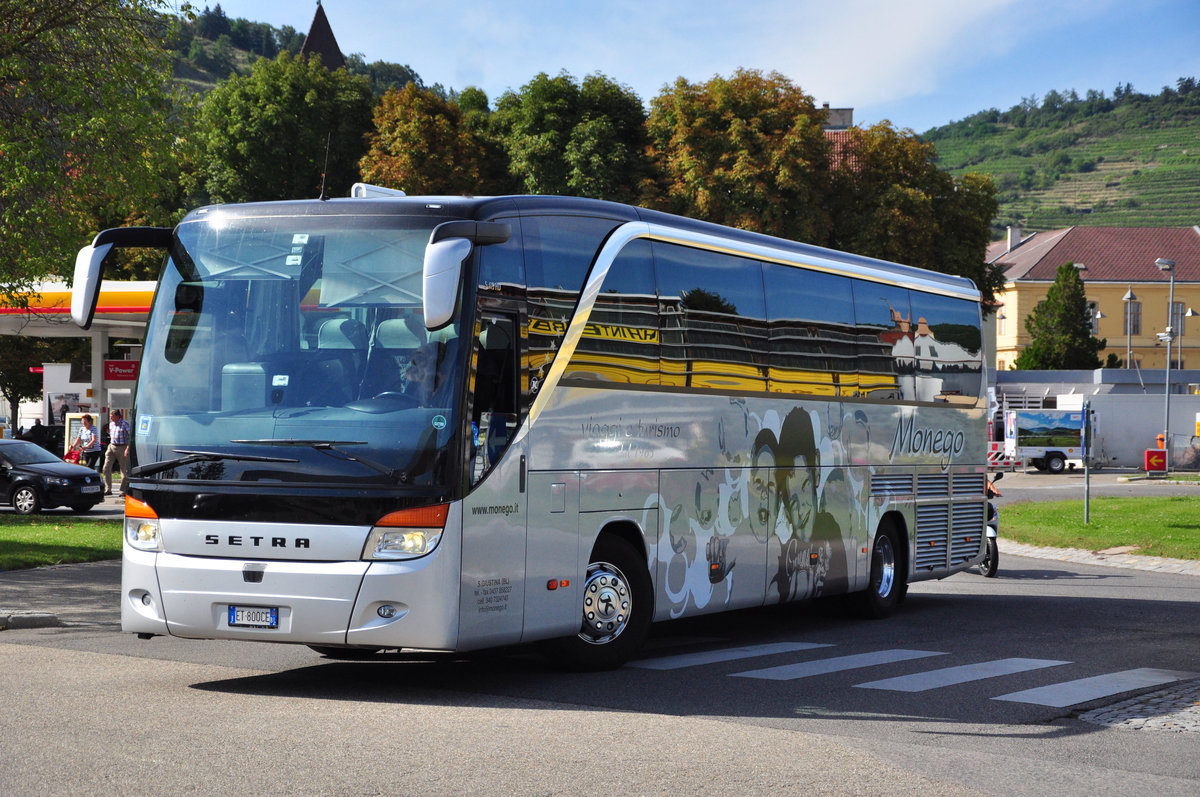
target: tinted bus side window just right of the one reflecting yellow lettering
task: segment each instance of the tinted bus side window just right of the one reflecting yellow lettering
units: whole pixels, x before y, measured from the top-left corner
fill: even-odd
[[[664,384],[767,389],[767,310],[761,264],[654,244],[662,307]]]

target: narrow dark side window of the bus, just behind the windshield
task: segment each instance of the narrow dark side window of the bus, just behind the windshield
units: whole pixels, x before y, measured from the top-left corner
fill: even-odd
[[[516,431],[516,324],[503,316],[484,316],[475,338],[472,395],[472,483],[479,481],[509,447]]]

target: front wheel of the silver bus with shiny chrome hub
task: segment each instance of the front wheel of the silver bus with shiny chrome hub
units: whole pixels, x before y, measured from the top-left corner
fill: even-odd
[[[650,574],[625,540],[604,535],[583,581],[580,633],[554,640],[553,654],[572,670],[619,667],[642,646],[653,611]]]

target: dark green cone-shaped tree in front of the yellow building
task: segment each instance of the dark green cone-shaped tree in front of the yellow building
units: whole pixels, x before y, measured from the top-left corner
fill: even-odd
[[[1058,266],[1046,298],[1025,319],[1025,330],[1030,344],[1013,364],[1018,371],[1100,367],[1098,352],[1108,341],[1092,335],[1091,310],[1074,263]]]

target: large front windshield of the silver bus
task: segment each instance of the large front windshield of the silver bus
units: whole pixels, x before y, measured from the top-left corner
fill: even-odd
[[[430,332],[431,216],[179,226],[134,407],[140,475],[377,489],[444,485],[460,324]]]

